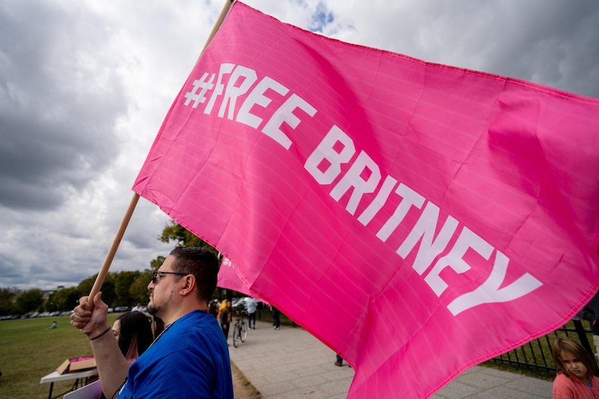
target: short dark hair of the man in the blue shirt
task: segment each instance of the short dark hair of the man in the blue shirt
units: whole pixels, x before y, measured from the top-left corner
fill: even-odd
[[[170,251],[174,256],[172,269],[179,273],[192,274],[197,285],[197,298],[208,303],[218,279],[218,260],[206,248],[180,246]]]

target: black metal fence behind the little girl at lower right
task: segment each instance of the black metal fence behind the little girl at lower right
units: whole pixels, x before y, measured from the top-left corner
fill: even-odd
[[[582,321],[577,319],[566,324],[563,328],[558,328],[543,337],[533,339],[523,346],[503,353],[498,357],[494,357],[492,362],[495,364],[507,363],[518,367],[536,368],[539,370],[555,372],[557,371],[557,368],[553,362],[551,347],[553,339],[558,335],[565,335],[566,337],[580,341],[582,346],[584,346],[586,350],[589,350],[589,353],[591,353],[593,359],[597,362],[597,359],[594,356],[595,350],[591,348],[591,343],[589,343],[592,332],[586,330],[582,325]]]

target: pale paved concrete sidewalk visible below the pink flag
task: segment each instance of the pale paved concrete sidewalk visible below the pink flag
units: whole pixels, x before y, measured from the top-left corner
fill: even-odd
[[[265,399],[342,399],[354,370],[334,365],[335,353],[302,328],[256,323],[247,340],[233,347],[231,361]],[[398,387],[399,388],[399,387]],[[397,398],[402,398],[397,392]],[[551,399],[552,383],[492,368],[475,366],[438,391],[435,399]],[[386,399],[386,398],[372,398]]]

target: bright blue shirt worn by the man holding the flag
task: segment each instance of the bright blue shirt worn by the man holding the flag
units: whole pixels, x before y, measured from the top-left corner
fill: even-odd
[[[129,368],[118,398],[233,399],[224,334],[211,314],[196,310],[170,325]]]

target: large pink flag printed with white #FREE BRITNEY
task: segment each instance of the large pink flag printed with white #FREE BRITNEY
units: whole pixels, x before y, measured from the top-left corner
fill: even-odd
[[[243,3],[133,189],[347,359],[349,398],[428,398],[599,287],[599,100]]]

